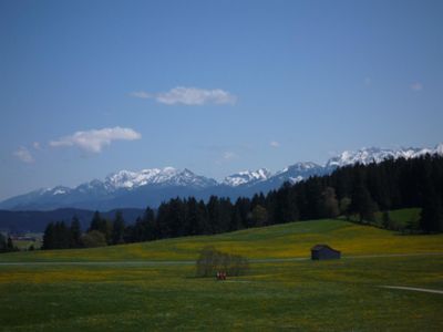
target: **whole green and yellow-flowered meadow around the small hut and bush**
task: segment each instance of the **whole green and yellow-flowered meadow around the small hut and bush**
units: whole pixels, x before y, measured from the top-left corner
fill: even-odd
[[[195,278],[192,261],[208,243],[251,259],[248,274],[224,282]],[[343,259],[271,260],[308,257],[316,243],[341,250]],[[442,252],[443,235],[316,220],[7,253],[0,256],[0,330],[442,331],[443,294],[381,288],[443,290]]]

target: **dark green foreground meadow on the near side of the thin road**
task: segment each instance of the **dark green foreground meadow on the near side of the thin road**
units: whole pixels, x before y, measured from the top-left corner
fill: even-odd
[[[194,267],[1,267],[4,331],[441,331],[443,257],[253,264],[226,282]],[[4,277],[8,276],[8,277]]]

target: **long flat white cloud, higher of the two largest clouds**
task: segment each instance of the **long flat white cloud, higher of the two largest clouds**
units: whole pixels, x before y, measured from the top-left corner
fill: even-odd
[[[205,104],[235,104],[237,97],[222,89],[205,90],[198,87],[177,86],[167,92],[151,94],[144,91],[132,92],[131,96],[154,98],[166,105],[205,105]]]

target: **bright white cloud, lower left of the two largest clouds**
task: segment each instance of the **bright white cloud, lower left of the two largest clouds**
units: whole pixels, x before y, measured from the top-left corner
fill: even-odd
[[[78,146],[86,152],[100,153],[103,146],[110,145],[112,141],[134,141],[141,137],[142,135],[134,129],[113,127],[76,132],[58,141],[51,141],[50,145],[53,147]]]

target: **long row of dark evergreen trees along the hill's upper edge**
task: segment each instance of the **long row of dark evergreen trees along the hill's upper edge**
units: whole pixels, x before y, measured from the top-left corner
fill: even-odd
[[[338,216],[357,217],[357,221],[368,224],[379,210],[384,211],[383,225],[390,228],[387,211],[411,207],[422,208],[421,231],[443,231],[443,157],[426,155],[356,164],[338,168],[331,175],[310,177],[295,185],[286,183],[267,195],[259,193],[235,201],[217,196],[207,201],[177,197],[161,204],[156,211],[147,207],[134,225],[125,225],[120,211],[112,220],[96,211],[83,234],[75,217],[71,225],[49,224],[43,249],[213,235]]]

